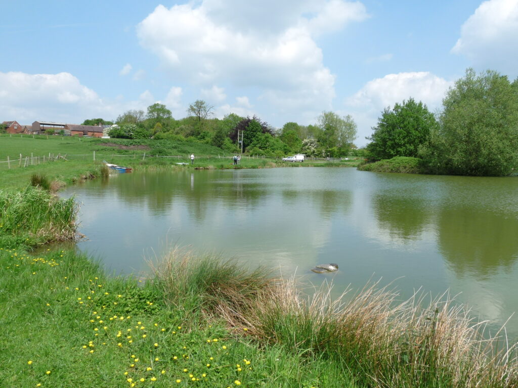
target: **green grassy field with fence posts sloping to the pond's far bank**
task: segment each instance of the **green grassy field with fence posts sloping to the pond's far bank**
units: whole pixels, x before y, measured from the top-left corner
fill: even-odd
[[[191,153],[195,155],[195,163],[192,166],[189,159]],[[59,155],[66,160],[58,157]],[[49,161],[49,156],[52,161]],[[7,157],[10,160],[10,168]],[[103,160],[134,169],[355,167],[359,162],[347,160],[291,163],[279,159],[243,156],[240,164],[234,166],[232,155],[225,155],[220,148],[188,141],[3,134],[0,135],[0,188],[22,188],[35,173],[46,176],[50,181],[68,185],[98,176]]]

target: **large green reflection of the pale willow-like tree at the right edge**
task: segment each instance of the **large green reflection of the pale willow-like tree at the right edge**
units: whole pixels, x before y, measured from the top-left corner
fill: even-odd
[[[439,248],[459,274],[486,277],[518,258],[515,215],[444,208],[438,220]]]

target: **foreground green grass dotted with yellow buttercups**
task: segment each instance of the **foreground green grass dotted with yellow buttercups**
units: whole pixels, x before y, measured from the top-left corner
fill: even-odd
[[[193,319],[153,283],[107,277],[72,251],[2,248],[0,263],[2,386],[355,386],[337,364]]]

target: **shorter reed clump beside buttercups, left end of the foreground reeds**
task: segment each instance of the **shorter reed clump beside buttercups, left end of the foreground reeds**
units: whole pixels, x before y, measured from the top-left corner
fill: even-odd
[[[153,269],[154,282],[165,301],[193,318],[243,311],[273,282],[265,268],[250,272],[235,260],[195,257],[179,248],[172,249]]]

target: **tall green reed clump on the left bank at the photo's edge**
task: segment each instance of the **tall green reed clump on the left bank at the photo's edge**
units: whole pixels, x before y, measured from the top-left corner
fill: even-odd
[[[29,186],[21,191],[0,190],[0,234],[20,237],[32,244],[76,238],[77,205]]]

